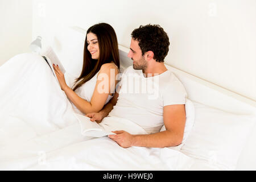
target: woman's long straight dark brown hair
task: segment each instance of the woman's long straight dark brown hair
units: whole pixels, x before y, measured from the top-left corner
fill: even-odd
[[[92,59],[92,55],[87,49],[87,34],[92,32],[97,36],[100,49],[98,60]],[[114,28],[107,23],[98,23],[90,27],[86,32],[84,44],[84,63],[82,65],[81,75],[76,78],[73,91],[82,86],[86,81],[89,81],[98,71],[102,64],[114,62],[118,69],[120,67],[117,35]]]

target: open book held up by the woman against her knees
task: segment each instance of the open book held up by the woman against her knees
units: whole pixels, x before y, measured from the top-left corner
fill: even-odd
[[[57,57],[57,55],[53,51],[52,47],[49,46],[46,49],[44,49],[44,51],[41,52],[41,55],[42,55],[43,59],[46,60],[49,67],[51,68],[52,73],[55,76],[56,80],[57,80],[57,77],[56,77],[56,74],[55,74],[55,71],[54,71],[54,68],[53,68],[52,64],[58,65],[59,68],[60,68],[60,71],[63,72],[63,74],[66,72],[63,65],[61,64],[59,58]]]

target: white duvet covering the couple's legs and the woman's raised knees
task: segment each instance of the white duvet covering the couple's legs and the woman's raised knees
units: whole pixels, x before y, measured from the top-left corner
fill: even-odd
[[[195,164],[171,148],[122,148],[108,137],[82,136],[71,103],[39,55],[13,57],[0,67],[0,80],[1,170],[187,170]],[[105,126],[144,132],[115,120]]]

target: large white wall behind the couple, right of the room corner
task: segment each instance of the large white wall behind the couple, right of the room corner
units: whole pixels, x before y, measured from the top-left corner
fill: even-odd
[[[54,43],[68,26],[111,24],[122,46],[141,24],[170,36],[166,63],[256,100],[254,0],[34,0],[33,37]]]

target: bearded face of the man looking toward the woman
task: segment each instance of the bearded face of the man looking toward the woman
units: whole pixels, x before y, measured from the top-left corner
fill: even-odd
[[[128,57],[133,60],[133,68],[134,69],[146,69],[147,68],[147,60],[142,56],[141,48],[139,47],[139,42],[131,38],[130,51],[128,53]]]

